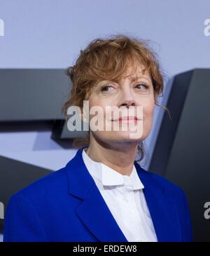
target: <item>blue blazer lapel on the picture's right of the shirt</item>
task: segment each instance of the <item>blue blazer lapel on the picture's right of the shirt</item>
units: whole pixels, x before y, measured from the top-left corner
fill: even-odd
[[[134,165],[144,184],[144,196],[158,241],[181,241],[181,226],[175,198],[167,195],[165,187],[153,180],[153,174],[146,172],[137,162],[134,162]]]

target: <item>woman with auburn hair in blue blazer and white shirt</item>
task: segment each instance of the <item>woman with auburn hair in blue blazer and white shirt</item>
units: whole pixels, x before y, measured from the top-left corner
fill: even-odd
[[[89,132],[65,167],[10,198],[4,241],[192,241],[181,188],[136,159],[163,89],[153,51],[123,35],[95,39],[66,71],[64,113],[77,107]]]

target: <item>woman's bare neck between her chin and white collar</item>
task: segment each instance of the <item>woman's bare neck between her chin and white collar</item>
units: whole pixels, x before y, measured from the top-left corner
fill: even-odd
[[[130,176],[137,153],[137,141],[102,143],[90,136],[87,155],[95,162],[102,162],[120,174]]]

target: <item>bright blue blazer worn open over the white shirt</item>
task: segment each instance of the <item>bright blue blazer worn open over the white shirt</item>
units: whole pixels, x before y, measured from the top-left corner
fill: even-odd
[[[65,167],[15,193],[3,241],[126,242],[83,162],[83,148]],[[178,186],[134,162],[158,241],[192,241],[186,196]]]

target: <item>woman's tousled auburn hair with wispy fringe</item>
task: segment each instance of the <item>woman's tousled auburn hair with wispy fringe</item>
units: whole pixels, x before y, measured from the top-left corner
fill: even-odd
[[[144,65],[153,84],[155,105],[164,87],[164,74],[160,70],[158,56],[149,46],[149,41],[128,37],[124,34],[112,35],[106,38],[97,38],[90,42],[80,54],[74,65],[66,68],[66,75],[71,80],[71,91],[68,100],[62,107],[62,113],[67,119],[67,109],[71,105],[83,108],[83,101],[87,100],[94,85],[102,80],[118,82],[124,76],[127,67],[132,65],[134,73],[138,64]],[[86,137],[76,138],[73,146],[80,148],[90,143],[90,132]],[[145,155],[144,143],[138,145],[138,152],[142,160]],[[138,161],[139,161],[138,160]]]

